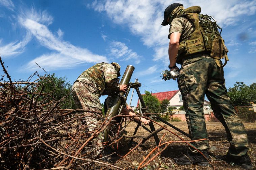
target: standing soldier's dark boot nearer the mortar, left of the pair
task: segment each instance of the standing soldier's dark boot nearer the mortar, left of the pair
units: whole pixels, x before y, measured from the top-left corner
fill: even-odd
[[[208,152],[203,152],[203,154],[206,156],[207,159],[210,160]],[[187,155],[175,158],[174,161],[179,165],[197,164],[200,166],[211,166],[209,162],[204,158],[204,156],[200,153],[189,152]]]

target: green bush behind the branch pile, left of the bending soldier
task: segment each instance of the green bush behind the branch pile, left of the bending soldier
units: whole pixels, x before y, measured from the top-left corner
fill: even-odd
[[[60,100],[61,98],[67,96],[72,89],[72,84],[70,81],[67,81],[65,77],[56,77],[55,74],[52,74],[48,79],[44,79],[39,81],[40,84],[44,84],[44,89],[42,93],[50,94],[52,97],[49,96],[50,100],[55,99]],[[38,89],[40,92],[42,86]],[[41,98],[39,98],[41,100]],[[49,101],[44,101],[47,103]],[[76,109],[72,94],[70,93],[61,103],[61,109]]]

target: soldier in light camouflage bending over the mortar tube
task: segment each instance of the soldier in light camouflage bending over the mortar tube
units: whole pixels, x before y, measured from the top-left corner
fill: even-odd
[[[74,82],[72,87],[72,96],[75,105],[85,111],[84,115],[88,116],[82,121],[87,125],[89,131],[95,131],[102,124],[102,110],[99,97],[115,91],[124,91],[127,85],[118,84],[120,76],[120,65],[118,63],[98,63],[85,70]],[[93,145],[97,145],[95,155],[101,152],[101,143],[103,142],[103,132],[93,140]]]

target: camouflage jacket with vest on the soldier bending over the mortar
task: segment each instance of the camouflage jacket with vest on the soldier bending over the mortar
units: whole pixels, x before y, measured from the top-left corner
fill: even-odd
[[[88,68],[76,81],[93,86],[98,91],[99,97],[119,90],[117,71],[108,63],[98,63]]]

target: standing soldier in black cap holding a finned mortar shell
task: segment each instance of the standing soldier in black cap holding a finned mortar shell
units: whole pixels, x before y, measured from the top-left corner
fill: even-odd
[[[213,47],[215,49],[213,44],[216,38],[219,41],[217,46],[223,46],[221,55],[227,53],[218,31],[220,27],[214,22],[199,23],[202,17],[202,15],[199,17],[200,12],[199,6],[184,9],[182,4],[174,3],[165,9],[164,20],[161,24],[170,24],[168,35],[170,65],[168,67],[171,71],[176,69],[180,72],[178,86],[186,111],[189,134],[192,140],[208,139],[203,113],[206,94],[211,102],[214,115],[225,127],[230,142],[227,155],[219,158],[227,162],[232,161],[245,169],[253,169],[247,155],[249,144],[245,127],[227,95],[221,60],[214,58],[216,50],[211,50]],[[228,60],[227,56],[225,59]],[[181,64],[181,69],[176,66],[176,63]],[[209,158],[208,140],[191,144]],[[189,149],[187,156],[179,157],[175,159],[175,162],[182,165],[208,165],[205,158],[193,148]]]

